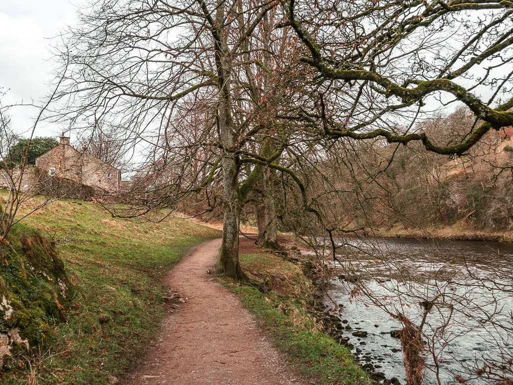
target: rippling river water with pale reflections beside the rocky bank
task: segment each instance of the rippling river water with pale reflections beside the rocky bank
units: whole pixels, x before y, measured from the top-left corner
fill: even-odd
[[[340,318],[354,356],[386,378],[406,378],[400,339],[390,334],[402,324],[392,315],[420,325],[427,306],[426,384],[490,383],[493,375],[478,376],[476,368],[513,352],[513,245],[350,238],[338,259],[325,305]],[[353,335],[359,331],[367,336]]]

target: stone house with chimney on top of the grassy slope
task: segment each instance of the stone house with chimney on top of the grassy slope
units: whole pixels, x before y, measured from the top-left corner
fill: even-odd
[[[64,133],[59,144],[36,159],[36,167],[49,177],[58,177],[104,192],[121,189],[121,170],[92,156],[87,148],[70,145]]]

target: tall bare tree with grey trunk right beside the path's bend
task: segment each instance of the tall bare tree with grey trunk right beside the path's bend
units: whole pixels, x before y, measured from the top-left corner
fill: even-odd
[[[123,127],[125,144],[146,151],[140,163],[181,167],[190,183],[168,183],[164,205],[219,176],[221,267],[236,279],[245,278],[242,206],[287,145],[291,124],[279,116],[300,88],[299,45],[290,28],[275,28],[282,22],[277,2],[102,0],[63,36],[59,97],[67,109],[56,116],[77,130],[98,121]],[[201,135],[186,137],[176,119],[196,108],[205,111]]]

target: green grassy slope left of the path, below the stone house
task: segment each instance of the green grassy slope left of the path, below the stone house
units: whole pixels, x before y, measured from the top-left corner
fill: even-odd
[[[55,242],[70,306],[65,321],[45,325],[51,343],[8,361],[0,374],[6,385],[107,384],[122,375],[164,316],[163,276],[192,245],[220,234],[183,219],[112,219],[74,200],[45,206],[24,223]]]

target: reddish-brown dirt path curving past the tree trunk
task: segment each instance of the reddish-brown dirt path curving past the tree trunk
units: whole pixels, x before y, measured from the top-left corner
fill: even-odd
[[[281,385],[303,383],[285,369],[240,301],[212,280],[207,269],[221,240],[194,247],[167,283],[187,298],[169,313],[133,385]]]

